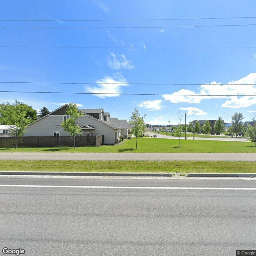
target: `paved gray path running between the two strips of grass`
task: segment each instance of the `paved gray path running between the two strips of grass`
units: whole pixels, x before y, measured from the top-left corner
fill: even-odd
[[[256,153],[0,153],[0,160],[256,161]]]

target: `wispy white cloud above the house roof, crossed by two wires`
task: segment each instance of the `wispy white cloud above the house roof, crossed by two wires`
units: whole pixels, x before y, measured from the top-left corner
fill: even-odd
[[[122,86],[128,86],[127,80],[120,73],[114,74],[113,77],[105,76],[101,80],[96,81],[96,83],[98,84],[98,86],[86,87],[86,91],[91,93],[98,93],[95,94],[95,96],[102,99],[106,97],[119,97],[119,93],[121,93]]]

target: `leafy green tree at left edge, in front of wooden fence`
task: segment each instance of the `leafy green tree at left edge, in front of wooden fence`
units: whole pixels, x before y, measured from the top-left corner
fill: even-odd
[[[15,104],[1,104],[0,106],[0,123],[10,126],[10,133],[16,137],[17,148],[18,139],[26,132],[28,124],[31,122],[27,117],[26,108],[20,107],[20,102]]]

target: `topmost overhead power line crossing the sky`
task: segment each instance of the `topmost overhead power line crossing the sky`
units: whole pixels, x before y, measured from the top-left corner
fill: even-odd
[[[251,19],[256,18],[256,16],[245,16],[245,17],[210,17],[210,18],[167,18],[167,19],[111,19],[111,20],[82,20],[82,19],[76,19],[76,20],[69,20],[69,19],[48,19],[48,20],[24,20],[24,19],[8,19],[8,20],[0,20],[0,21],[36,21],[36,22],[54,22],[56,20],[58,21],[75,21],[75,22],[91,22],[91,21],[168,21],[168,20],[226,20],[226,19]]]

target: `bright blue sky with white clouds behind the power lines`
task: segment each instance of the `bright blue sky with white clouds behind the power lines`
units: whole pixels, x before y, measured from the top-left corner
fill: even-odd
[[[193,2],[193,4],[192,4]],[[136,94],[256,94],[256,26],[165,28],[256,24],[250,19],[98,21],[62,20],[170,19],[255,16],[256,2],[247,0],[74,0],[1,3],[0,27],[123,27],[158,28],[10,29],[0,28],[0,46],[91,46],[106,48],[0,47],[0,81],[81,82],[68,84],[0,84],[1,90],[42,92],[110,92]],[[112,48],[111,48],[112,47]],[[119,47],[119,48],[118,48]],[[150,47],[177,47],[150,49]],[[181,49],[187,47],[186,49]],[[101,84],[122,83],[122,84]],[[198,84],[131,85],[125,83]],[[232,84],[243,84],[234,86]],[[34,109],[51,111],[68,102],[81,108],[104,108],[112,117],[129,119],[135,107],[151,124],[176,124],[177,112],[187,122],[217,119],[230,122],[234,112],[252,119],[256,97],[149,96],[103,94],[22,94],[0,92],[0,102],[18,99]]]

